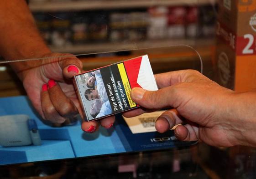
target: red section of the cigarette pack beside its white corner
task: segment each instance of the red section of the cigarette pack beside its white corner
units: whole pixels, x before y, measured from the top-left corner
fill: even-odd
[[[138,79],[138,75],[141,67],[141,60],[142,60],[142,56],[133,60],[124,61],[125,70],[131,85],[131,89],[134,87],[141,87],[137,83],[137,79]]]

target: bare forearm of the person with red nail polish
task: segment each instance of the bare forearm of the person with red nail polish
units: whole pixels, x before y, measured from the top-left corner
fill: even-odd
[[[50,53],[25,0],[0,0],[0,55],[5,60],[41,57]],[[12,63],[21,72],[35,62]]]

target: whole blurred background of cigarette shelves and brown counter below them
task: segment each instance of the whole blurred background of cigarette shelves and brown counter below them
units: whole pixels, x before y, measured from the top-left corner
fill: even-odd
[[[29,0],[29,6],[51,50],[82,54],[86,71],[145,54],[154,73],[199,70],[192,46],[204,75],[214,77],[216,0]],[[5,64],[0,97],[16,95],[26,92]]]

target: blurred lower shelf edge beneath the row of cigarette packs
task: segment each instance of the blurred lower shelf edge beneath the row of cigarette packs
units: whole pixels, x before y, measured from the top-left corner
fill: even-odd
[[[68,53],[98,53],[98,52],[110,52],[110,51],[130,51],[143,48],[153,47],[167,47],[167,46],[192,46],[194,48],[200,46],[212,46],[214,45],[214,39],[203,38],[203,39],[162,39],[162,40],[147,40],[138,42],[102,42],[102,43],[88,43],[83,45],[54,47],[51,49],[54,52],[68,52]]]

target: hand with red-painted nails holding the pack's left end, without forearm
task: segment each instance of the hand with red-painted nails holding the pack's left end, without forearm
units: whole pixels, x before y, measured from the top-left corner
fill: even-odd
[[[23,84],[32,104],[42,118],[52,123],[64,123],[78,113],[82,115],[72,82],[73,75],[82,71],[82,62],[71,54],[50,53],[44,57],[24,74]],[[109,127],[114,120],[110,117],[99,122],[84,122],[82,129],[93,133],[99,123]]]

